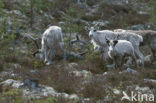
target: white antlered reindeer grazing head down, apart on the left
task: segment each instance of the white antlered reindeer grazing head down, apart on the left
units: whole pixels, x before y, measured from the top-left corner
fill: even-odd
[[[37,39],[33,38],[29,34],[26,34],[25,36],[35,41],[38,50],[34,53],[34,55],[38,54],[40,59],[44,60],[46,65],[50,65],[52,63],[54,53],[58,52],[57,50],[61,50],[65,58],[66,53],[64,49],[64,40],[62,29],[60,27],[50,26],[47,30],[45,30],[42,35],[41,49],[39,49],[36,42]]]

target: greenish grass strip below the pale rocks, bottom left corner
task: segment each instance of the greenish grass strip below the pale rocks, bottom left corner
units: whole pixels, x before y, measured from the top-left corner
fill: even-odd
[[[13,89],[9,86],[0,87],[0,102],[1,103],[77,103],[74,100],[65,100],[63,98],[55,98],[49,96],[42,99],[32,99],[22,96],[21,90]]]

